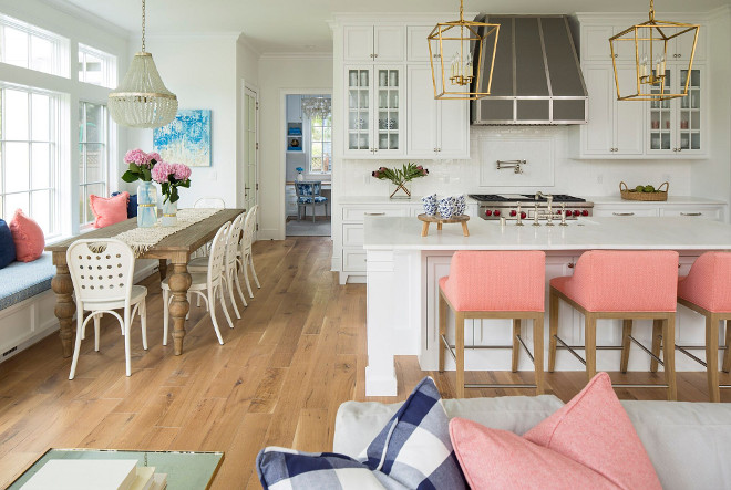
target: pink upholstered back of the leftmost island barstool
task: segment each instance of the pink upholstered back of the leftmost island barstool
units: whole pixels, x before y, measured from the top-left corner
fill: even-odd
[[[544,311],[542,251],[457,251],[440,288],[456,311]]]

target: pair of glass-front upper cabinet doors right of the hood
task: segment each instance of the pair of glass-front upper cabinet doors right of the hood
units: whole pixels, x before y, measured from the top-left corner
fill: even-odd
[[[688,67],[670,66],[666,70],[666,93],[680,93],[688,81]],[[703,111],[704,80],[703,67],[693,66],[690,72],[688,95],[669,101],[651,101],[647,118],[647,153],[668,154],[678,157],[702,155],[704,145]],[[652,93],[659,93],[660,87]]]

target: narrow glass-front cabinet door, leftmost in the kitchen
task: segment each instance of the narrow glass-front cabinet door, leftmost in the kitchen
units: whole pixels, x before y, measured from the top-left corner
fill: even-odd
[[[370,156],[371,148],[371,98],[373,69],[369,66],[346,67],[346,155]]]

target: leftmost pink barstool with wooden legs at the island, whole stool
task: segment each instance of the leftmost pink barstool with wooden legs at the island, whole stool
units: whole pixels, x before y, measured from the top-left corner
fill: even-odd
[[[456,394],[464,388],[536,388],[544,393],[543,315],[546,254],[540,251],[457,251],[450,275],[439,282],[439,333],[456,363]],[[447,307],[455,317],[455,344],[446,340]],[[512,348],[513,373],[517,372],[519,347],[535,365],[535,384],[464,384],[465,319],[512,319],[513,345],[472,345],[466,348]],[[533,320],[533,354],[521,337],[521,320]],[[444,348],[439,350],[439,371],[444,372]]]

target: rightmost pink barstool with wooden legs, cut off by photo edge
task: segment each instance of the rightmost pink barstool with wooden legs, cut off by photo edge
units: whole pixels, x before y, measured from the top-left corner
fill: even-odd
[[[719,322],[725,321],[725,354],[723,372],[731,367],[729,355],[729,320],[731,320],[731,253],[707,252],[696,259],[688,275],[678,281],[678,303],[706,316],[706,362],[699,359],[689,350],[690,345],[677,345],[676,348],[693,361],[706,366],[708,392],[711,402],[721,400],[719,386]],[[702,348],[702,347],[700,347]]]

